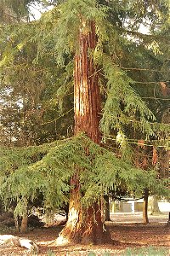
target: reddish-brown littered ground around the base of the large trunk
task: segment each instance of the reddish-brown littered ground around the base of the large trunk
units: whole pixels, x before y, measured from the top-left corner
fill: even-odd
[[[55,247],[53,241],[62,227],[32,230],[26,234],[26,237],[37,243],[40,256],[88,256],[88,253],[92,251],[97,256],[103,255],[105,252],[111,253],[110,255],[121,255],[127,247],[170,247],[170,230],[166,226],[167,214],[151,216],[148,225],[141,224],[141,213],[134,215],[118,213],[114,216],[111,215],[111,218],[112,222],[106,223],[106,226],[111,232],[112,239],[118,241],[116,245]],[[30,253],[24,248],[10,246],[0,247],[0,255],[24,256],[30,255]]]

